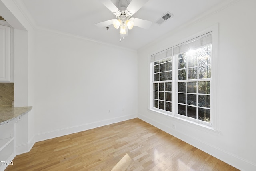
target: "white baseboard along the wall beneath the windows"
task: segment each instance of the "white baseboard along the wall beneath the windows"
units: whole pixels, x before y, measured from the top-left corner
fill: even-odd
[[[174,137],[177,137],[178,139],[181,139],[182,141],[185,141],[190,145],[193,145],[194,147],[212,155],[213,157],[216,157],[217,159],[220,159],[221,161],[224,161],[225,163],[228,163],[229,165],[236,167],[237,169],[240,169],[243,171],[252,171],[252,170],[256,171],[256,165],[254,163],[251,163],[250,161],[246,161],[245,159],[242,159],[236,155],[228,153],[223,149],[214,147],[210,144],[206,144],[198,139],[195,139],[194,137],[186,135],[177,130],[174,131],[171,127],[163,125],[162,123],[159,123],[156,120],[150,119],[145,115],[141,115],[138,113],[138,118],[161,129],[162,131],[165,131],[166,133],[169,133],[170,135],[173,135]]]

